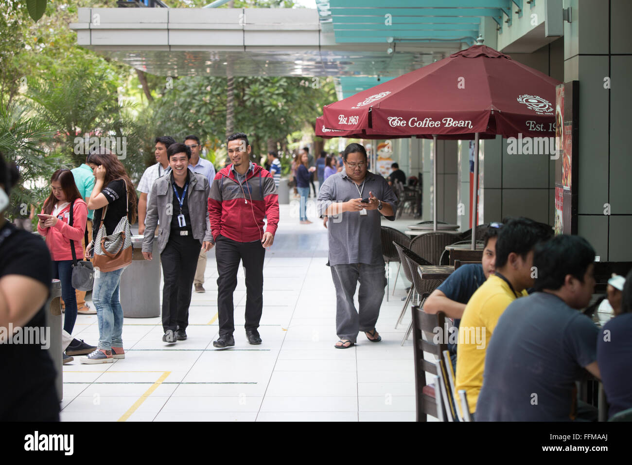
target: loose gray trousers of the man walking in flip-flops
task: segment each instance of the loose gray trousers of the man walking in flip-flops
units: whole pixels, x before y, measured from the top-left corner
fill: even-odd
[[[336,287],[336,333],[341,339],[356,342],[360,331],[373,331],[384,299],[386,273],[384,265],[364,263],[331,266],[331,277]],[[360,282],[358,302],[353,304],[356,286]]]

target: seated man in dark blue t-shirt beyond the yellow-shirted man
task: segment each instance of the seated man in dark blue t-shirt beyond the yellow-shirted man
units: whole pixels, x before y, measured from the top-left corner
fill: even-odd
[[[435,314],[442,311],[446,316],[454,319],[454,326],[458,330],[461,316],[470,297],[489,278],[489,275],[494,274],[496,239],[501,227],[502,223],[490,223],[483,237],[485,246],[482,263],[459,266],[447,280],[428,295],[428,299],[423,304],[425,313]],[[450,351],[452,367],[456,373],[456,343],[449,343],[447,349]]]

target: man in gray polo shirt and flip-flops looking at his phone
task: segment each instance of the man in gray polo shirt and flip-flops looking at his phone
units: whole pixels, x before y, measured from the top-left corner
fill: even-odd
[[[318,197],[320,218],[332,217],[327,264],[336,287],[337,349],[354,345],[360,331],[372,342],[382,340],[375,330],[386,287],[380,219],[395,220],[397,201],[386,180],[367,171],[363,146],[349,144],[343,159],[344,170],[325,180]],[[353,304],[358,282],[359,314]]]

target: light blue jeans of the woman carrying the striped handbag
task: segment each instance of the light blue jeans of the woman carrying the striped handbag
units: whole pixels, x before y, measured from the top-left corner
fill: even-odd
[[[111,350],[123,347],[123,307],[119,301],[121,274],[125,268],[114,271],[101,271],[94,278],[92,302],[97,307],[99,322],[99,349]],[[139,297],[140,298],[140,297]]]

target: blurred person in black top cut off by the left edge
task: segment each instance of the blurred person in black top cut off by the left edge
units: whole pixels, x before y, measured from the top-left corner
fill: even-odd
[[[41,341],[7,344],[10,328],[46,327],[44,305],[52,279],[44,241],[4,218],[9,190],[18,178],[15,165],[7,166],[0,153],[0,421],[59,421],[49,351],[42,350]]]

